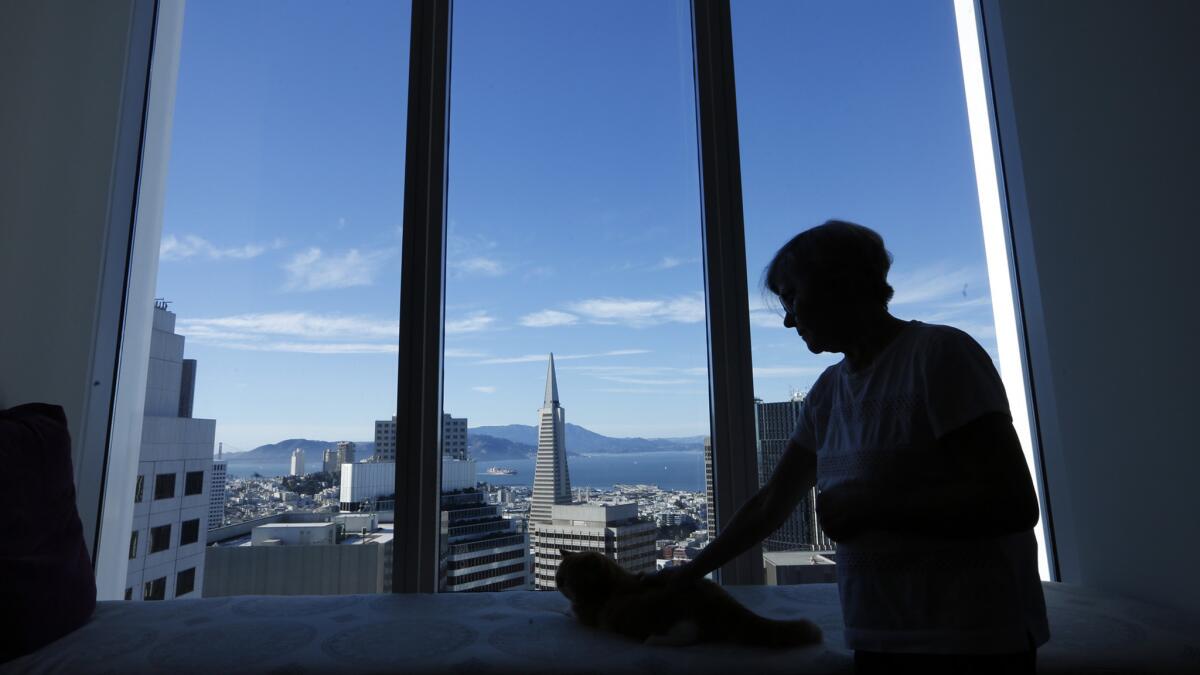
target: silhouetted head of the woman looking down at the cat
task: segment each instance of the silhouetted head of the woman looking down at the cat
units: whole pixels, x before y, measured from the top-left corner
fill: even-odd
[[[863,317],[887,311],[892,253],[877,232],[830,220],[793,237],[763,270],[784,324],[812,352],[841,351]]]

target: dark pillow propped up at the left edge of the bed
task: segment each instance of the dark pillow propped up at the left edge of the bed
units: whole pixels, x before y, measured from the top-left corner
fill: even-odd
[[[83,626],[96,580],[76,509],[71,434],[60,406],[0,411],[0,663]]]

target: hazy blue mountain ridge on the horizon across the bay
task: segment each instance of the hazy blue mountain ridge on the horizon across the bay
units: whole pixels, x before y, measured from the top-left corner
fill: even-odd
[[[373,441],[355,441],[355,459],[364,460],[374,454]],[[337,441],[313,441],[310,438],[288,438],[278,443],[259,446],[244,453],[226,453],[229,461],[280,461],[292,458],[292,450],[302,448],[305,464],[319,462],[325,448],[336,448]],[[701,452],[704,447],[703,436],[682,438],[618,438],[604,436],[580,426],[566,424],[566,454],[583,453],[659,453],[659,452]],[[504,426],[476,426],[467,430],[467,448],[470,458],[479,461],[504,459],[529,459],[538,452],[538,428],[532,424],[508,424]]]

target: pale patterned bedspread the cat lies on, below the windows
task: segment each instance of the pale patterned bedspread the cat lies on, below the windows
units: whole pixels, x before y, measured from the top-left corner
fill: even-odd
[[[2,673],[851,673],[836,587],[731,589],[809,617],[826,644],[647,647],[581,627],[558,593],[238,597],[100,603],[91,622]],[[1046,584],[1042,673],[1200,673],[1195,617]]]

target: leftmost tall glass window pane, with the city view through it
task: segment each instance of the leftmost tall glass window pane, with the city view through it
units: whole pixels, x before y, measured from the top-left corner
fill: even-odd
[[[396,402],[409,19],[384,0],[186,6],[173,108],[150,109],[172,124],[138,460],[155,500],[176,474],[191,498],[140,503],[139,478],[133,540],[158,555],[126,586],[146,598],[322,592],[352,552],[376,572],[340,587],[390,589],[373,420]],[[343,516],[362,489],[380,500]],[[186,552],[163,552],[172,527]],[[326,567],[269,590],[282,573],[250,571],[277,543],[295,545],[270,565]]]

